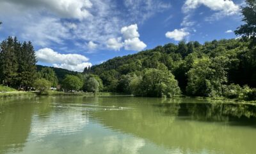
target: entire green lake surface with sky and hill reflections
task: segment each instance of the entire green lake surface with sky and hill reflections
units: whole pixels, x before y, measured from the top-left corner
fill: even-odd
[[[196,99],[0,99],[0,153],[256,153],[255,117]]]

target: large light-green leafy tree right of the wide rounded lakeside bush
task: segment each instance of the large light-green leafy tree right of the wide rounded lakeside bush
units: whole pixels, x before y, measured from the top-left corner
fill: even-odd
[[[193,63],[188,71],[188,86],[186,92],[196,96],[222,95],[222,85],[227,82],[225,57],[209,59],[203,57]]]

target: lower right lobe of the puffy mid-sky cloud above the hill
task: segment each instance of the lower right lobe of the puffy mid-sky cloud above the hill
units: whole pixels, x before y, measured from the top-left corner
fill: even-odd
[[[125,39],[124,41],[125,50],[141,51],[146,47],[147,45],[140,41],[139,38]]]

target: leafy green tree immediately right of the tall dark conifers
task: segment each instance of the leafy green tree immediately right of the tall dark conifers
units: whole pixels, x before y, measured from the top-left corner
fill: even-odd
[[[42,70],[40,71],[40,78],[44,78],[50,81],[52,83],[52,87],[57,87],[58,85],[58,78],[56,76],[56,73],[50,67],[42,68]]]

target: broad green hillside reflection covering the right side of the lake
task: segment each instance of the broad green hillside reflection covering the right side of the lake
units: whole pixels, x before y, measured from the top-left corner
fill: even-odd
[[[180,148],[191,153],[202,153],[204,149],[215,153],[253,153],[256,150],[254,106],[151,98],[122,101],[108,98],[99,99],[97,103],[131,108],[90,114],[105,127],[168,149]]]

